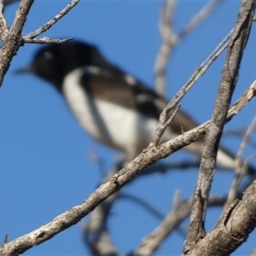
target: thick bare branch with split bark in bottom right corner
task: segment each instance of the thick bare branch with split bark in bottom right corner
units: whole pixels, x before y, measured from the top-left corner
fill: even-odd
[[[247,241],[256,225],[256,180],[244,192],[242,200],[236,200],[207,236],[199,240],[189,251],[195,255],[230,255]]]

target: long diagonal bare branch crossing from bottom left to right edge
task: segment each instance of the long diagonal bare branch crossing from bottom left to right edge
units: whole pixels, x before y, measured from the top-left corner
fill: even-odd
[[[247,105],[253,96],[256,95],[256,81],[249,89],[241,96],[229,110],[227,122],[232,119],[236,113],[241,111]],[[81,218],[92,212],[102,201],[108,196],[113,195],[121,189],[133,177],[136,177],[146,166],[154,164],[156,161],[166,158],[166,156],[176,152],[180,148],[195,142],[198,138],[205,135],[209,122],[200,125],[190,131],[184,132],[169,142],[163,143],[157,148],[146,148],[142,154],[139,154],[136,159],[132,160],[125,168],[109,178],[106,183],[103,183],[96,191],[91,194],[79,206],[73,207],[67,212],[57,216],[53,221],[44,224],[37,230],[29,234],[20,236],[14,241],[4,243],[0,247],[0,255],[18,255],[24,253],[34,245],[43,243],[51,237],[57,235],[63,230],[66,230],[73,224],[77,224]]]

